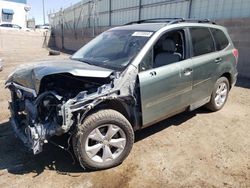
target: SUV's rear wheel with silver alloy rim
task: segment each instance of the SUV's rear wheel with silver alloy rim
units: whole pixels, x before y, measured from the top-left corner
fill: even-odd
[[[206,107],[213,112],[222,109],[227,102],[229,89],[228,79],[226,77],[220,77],[214,85],[210,102]]]

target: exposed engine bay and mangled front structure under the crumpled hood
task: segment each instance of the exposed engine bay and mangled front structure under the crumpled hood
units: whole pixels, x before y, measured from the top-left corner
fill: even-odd
[[[133,100],[133,88],[129,89],[131,84],[134,83],[128,80],[121,82],[119,73],[107,78],[59,73],[44,76],[36,93],[21,84],[7,81],[6,87],[12,95],[9,105],[11,124],[25,146],[38,154],[50,137],[71,131],[103,101],[122,100],[123,97]],[[125,95],[121,96],[121,93]]]

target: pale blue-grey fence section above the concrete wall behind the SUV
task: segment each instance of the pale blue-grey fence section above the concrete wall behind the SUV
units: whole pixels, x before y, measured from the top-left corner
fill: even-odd
[[[250,17],[249,0],[82,0],[49,15],[61,35],[91,37],[100,27],[122,25],[149,18],[228,19]],[[91,28],[91,29],[89,29]],[[87,34],[87,35],[86,35]]]

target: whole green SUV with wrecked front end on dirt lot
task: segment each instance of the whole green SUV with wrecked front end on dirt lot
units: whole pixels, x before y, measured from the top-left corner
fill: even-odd
[[[82,167],[114,167],[131,151],[134,131],[204,105],[220,110],[237,61],[226,29],[209,20],[132,22],[100,34],[69,60],[13,72],[6,82],[10,121],[34,154],[67,134]]]

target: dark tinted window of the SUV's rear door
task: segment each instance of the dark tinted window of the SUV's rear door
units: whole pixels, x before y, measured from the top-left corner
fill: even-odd
[[[199,56],[215,51],[212,35],[207,28],[190,28],[193,55]]]

